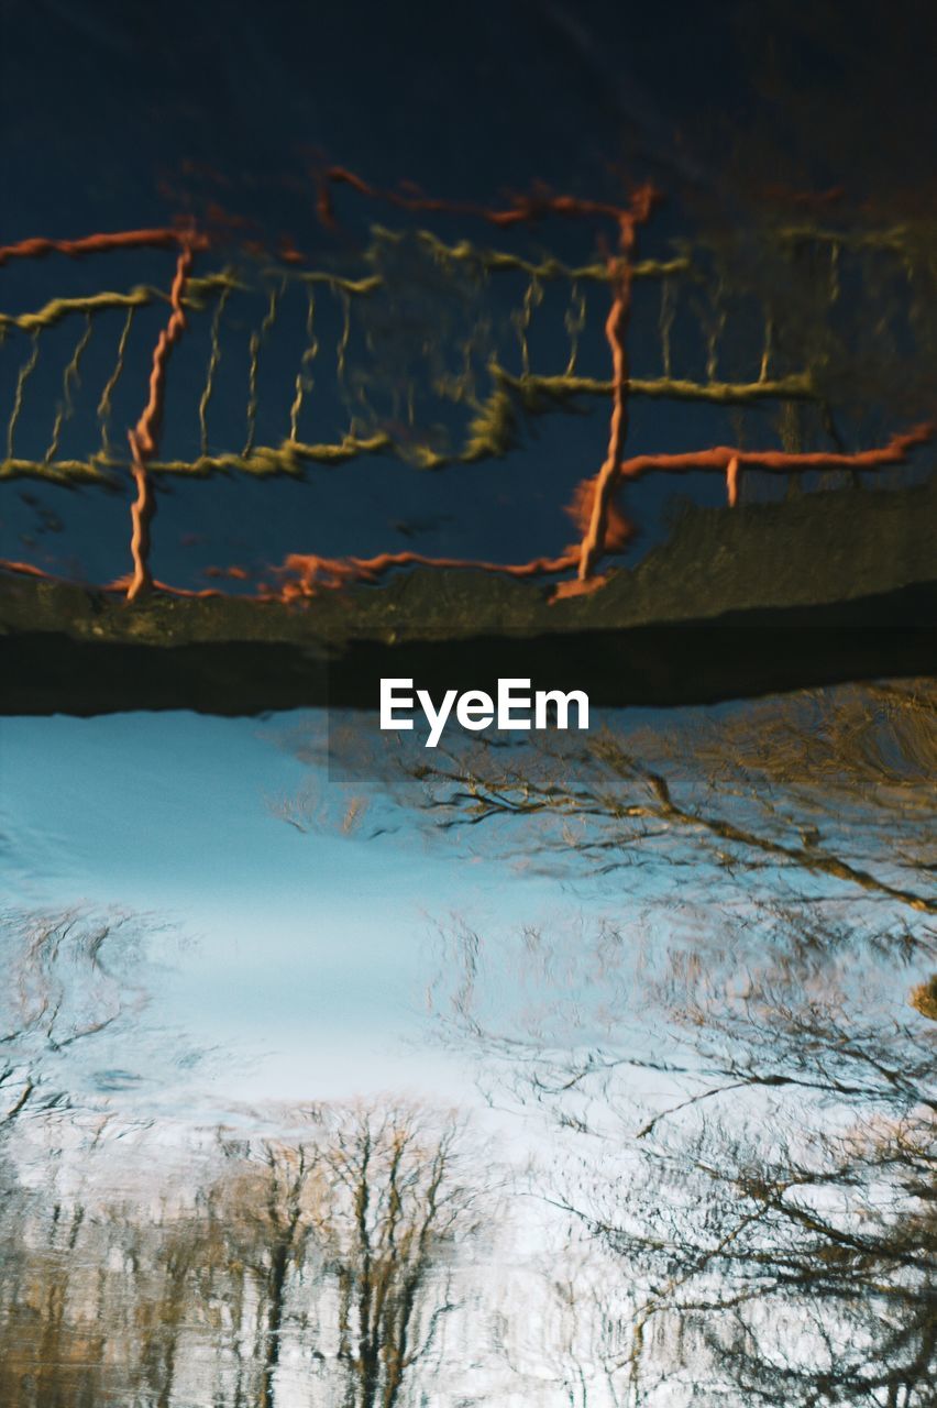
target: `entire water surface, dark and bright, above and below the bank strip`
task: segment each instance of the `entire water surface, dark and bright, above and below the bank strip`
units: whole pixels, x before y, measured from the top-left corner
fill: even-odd
[[[632,387],[627,455],[885,445],[933,414],[927,21],[10,3],[0,246],[211,231],[193,276],[231,287],[196,290],[163,458],[397,446],[159,477],[159,580],[523,562],[573,535],[608,387],[426,456],[467,444],[492,365],[608,380],[615,230],[478,211],[661,191],[630,375],[692,394]],[[383,194],[336,187],[329,222],[335,165]],[[3,563],[128,572],[174,258],[0,268]],[[28,322],[135,289],[132,317]],[[111,493],[49,483],[101,455]],[[743,498],[931,463],[751,470]],[[723,505],[722,473],[627,486],[609,558],[681,498]],[[435,752],[338,710],[1,717],[0,1408],[934,1404],[936,704],[872,680]]]

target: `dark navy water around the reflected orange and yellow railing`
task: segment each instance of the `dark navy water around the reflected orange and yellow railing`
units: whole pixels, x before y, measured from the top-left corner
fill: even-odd
[[[627,453],[869,449],[930,414],[937,300],[924,153],[936,117],[929,49],[910,20],[892,24],[871,4],[848,18],[770,4],[756,18],[746,6],[658,14],[529,0],[457,15],[422,3],[401,15],[370,4],[103,0],[10,13],[0,242],[196,220],[211,248],[197,253],[193,277],[228,270],[234,280],[224,294],[193,294],[160,458],[191,465],[290,435],[339,445],[349,434],[390,435],[402,455],[362,452],[301,480],[160,476],[160,582],[270,589],[291,553],[511,563],[563,551],[564,510],[605,455],[604,397],[516,407],[506,459],[445,474],[414,467],[421,453],[468,442],[498,384],[492,362],[515,377],[560,376],[575,356],[577,375],[611,375],[601,279],[490,273],[439,255],[467,242],[533,265],[601,268],[616,239],[606,218],[492,228],[477,214],[537,193],[622,204],[642,182],[658,190],[637,256],[691,258],[692,268],[635,280],[633,377],[813,377],[806,403],[635,396]],[[317,203],[333,166],[378,191],[416,187],[442,208],[340,187],[326,225]],[[837,239],[801,246],[784,235],[799,227]],[[290,263],[288,249],[302,262]],[[8,317],[56,298],[151,290],[129,314],[72,311],[41,335],[3,329],[4,472],[23,459],[103,455],[114,480],[111,493],[68,493],[30,474],[11,483],[0,505],[4,559],[97,584],[129,570],[125,432],[146,401],[173,260],[172,251],[135,249],[0,269]],[[308,273],[324,282],[304,283]],[[333,282],[376,275],[383,284],[371,294]],[[893,486],[923,467],[919,458],[868,482]],[[798,484],[817,480],[850,483],[827,472]],[[784,491],[775,476],[746,476],[748,498]],[[623,560],[667,535],[681,498],[722,504],[725,486],[696,472],[629,489],[635,535]]]

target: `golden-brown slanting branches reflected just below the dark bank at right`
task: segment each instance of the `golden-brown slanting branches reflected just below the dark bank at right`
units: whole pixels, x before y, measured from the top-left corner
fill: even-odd
[[[301,796],[274,807],[300,829],[377,836],[422,821],[428,835],[474,848],[488,836],[528,869],[612,877],[627,893],[665,895],[677,869],[705,884],[708,903],[744,890],[937,912],[933,681],[681,710],[653,724],[623,714],[582,738],[521,745],[494,735],[428,750],[414,735],[388,743],[350,722],[333,722],[328,739],[294,729],[284,743],[315,769]]]

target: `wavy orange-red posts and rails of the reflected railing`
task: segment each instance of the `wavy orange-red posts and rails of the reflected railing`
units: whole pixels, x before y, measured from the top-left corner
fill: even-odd
[[[739,503],[743,469],[761,469],[775,473],[796,473],[809,469],[879,469],[903,463],[913,448],[923,445],[934,435],[933,424],[919,425],[906,434],[892,436],[888,445],[879,449],[860,451],[851,455],[741,451],[730,446],[715,446],[708,451],[680,455],[640,455],[623,459],[623,446],[627,435],[629,359],[626,334],[632,308],[632,269],[637,227],[647,221],[657,199],[653,187],[643,186],[636,190],[626,207],[605,201],[580,200],[573,196],[554,196],[546,189],[539,189],[530,196],[515,196],[509,204],[494,208],[474,203],[429,197],[415,186],[401,186],[400,190],[393,191],[380,190],[340,166],[328,168],[317,179],[319,215],[329,225],[335,225],[335,213],[332,208],[332,187],[335,184],[349,186],[369,199],[388,201],[402,210],[471,215],[498,227],[515,227],[547,215],[613,220],[618,230],[618,246],[608,258],[612,304],[605,322],[605,337],[612,359],[612,413],[608,451],[599,472],[582,480],[575,490],[574,501],[567,513],[580,529],[580,541],[566,548],[559,556],[542,556],[525,563],[501,565],[463,558],[431,558],[415,552],[380,553],[374,558],[321,558],[317,555],[291,553],[283,566],[272,569],[280,579],[280,587],[276,591],[262,589],[262,596],[279,600],[304,598],[312,596],[319,587],[336,589],[346,582],[376,582],[394,567],[402,566],[474,569],[521,579],[539,574],[559,574],[577,569],[575,580],[563,582],[554,589],[553,600],[559,600],[592,591],[601,586],[605,579],[597,576],[595,572],[599,562],[606,553],[620,551],[633,536],[633,525],[615,504],[615,491],[623,480],[637,480],[651,472],[688,473],[694,470],[713,470],[726,474],[727,501],[730,507],[734,507]],[[799,193],[785,193],[785,196],[795,203],[803,199]],[[836,191],[830,191],[812,199],[824,201],[833,200],[836,196]],[[228,228],[234,228],[235,225],[241,228],[246,224],[242,218],[228,217],[219,207],[214,207],[211,214],[218,220],[222,232],[225,224]],[[172,313],[152,355],[149,400],[136,425],[128,432],[132,455],[131,472],[136,486],[136,498],[131,507],[131,553],[134,570],[127,579],[121,579],[103,589],[107,591],[127,589],[127,597],[131,601],[152,587],[163,591],[173,590],[163,583],[153,582],[149,570],[151,521],[156,511],[156,501],[148,466],[158,449],[169,358],[186,328],[186,314],[183,310],[186,279],[191,268],[194,251],[205,249],[210,244],[211,238],[204,231],[196,232],[194,228],[183,228],[180,225],[163,230],[96,234],[72,241],[25,239],[20,244],[0,246],[0,265],[4,265],[10,259],[44,258],[49,253],[65,253],[69,258],[80,258],[87,253],[111,249],[179,249],[176,275],[170,291]],[[260,244],[257,244],[257,252],[262,252]],[[298,263],[302,262],[304,255],[297,249],[290,237],[284,237],[280,245],[280,258],[290,263]],[[0,562],[0,567],[58,580],[42,569],[28,563]],[[212,569],[207,570],[211,572]],[[227,576],[246,577],[246,573],[243,569],[232,567],[227,570]],[[174,594],[200,597],[219,596],[221,593],[201,590],[176,591]]]

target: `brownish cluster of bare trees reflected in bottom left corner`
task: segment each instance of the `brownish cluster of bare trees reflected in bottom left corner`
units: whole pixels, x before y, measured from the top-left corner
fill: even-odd
[[[393,1100],[290,1122],[222,1133],[193,1156],[194,1188],[160,1178],[155,1208],[145,1191],[11,1194],[3,1404],[421,1401],[477,1294],[464,1259],[495,1214],[478,1150],[457,1117]]]

